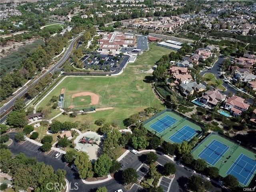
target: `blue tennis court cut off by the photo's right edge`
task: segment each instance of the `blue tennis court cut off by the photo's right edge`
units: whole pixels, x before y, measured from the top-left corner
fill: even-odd
[[[256,161],[244,154],[240,154],[226,174],[235,176],[240,183],[247,186],[255,171]]]

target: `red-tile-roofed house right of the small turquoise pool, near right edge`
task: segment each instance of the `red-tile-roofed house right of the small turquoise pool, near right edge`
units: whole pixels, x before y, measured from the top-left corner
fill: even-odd
[[[241,116],[249,106],[249,104],[244,103],[243,98],[234,95],[226,100],[224,108],[229,110],[234,117],[237,117]]]

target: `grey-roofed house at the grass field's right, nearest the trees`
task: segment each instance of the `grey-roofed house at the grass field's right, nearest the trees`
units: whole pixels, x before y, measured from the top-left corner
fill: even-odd
[[[197,84],[196,82],[190,81],[187,84],[180,84],[179,85],[180,93],[187,97],[193,96],[194,93],[202,92],[206,90],[206,87],[203,84]]]

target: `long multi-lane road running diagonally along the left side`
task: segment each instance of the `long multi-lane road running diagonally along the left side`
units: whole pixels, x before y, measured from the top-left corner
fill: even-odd
[[[70,56],[70,53],[72,52],[74,43],[76,42],[76,40],[78,40],[78,38],[80,38],[83,34],[80,34],[79,36],[77,36],[76,38],[74,38],[74,40],[72,40],[72,42],[70,43],[70,45],[68,46],[66,52],[64,53],[64,55],[62,56],[62,58],[54,65],[52,66],[52,68],[50,68],[48,71],[46,71],[44,74],[42,74],[42,76],[40,76],[38,79],[36,79],[32,85],[37,84],[42,78],[44,78],[46,75],[48,75],[49,73],[51,73],[52,71],[54,71],[54,69],[58,68],[59,66],[61,66]],[[0,108],[0,114],[4,114],[4,116],[1,117],[0,119],[0,123],[4,122],[6,120],[7,115],[12,111],[9,110],[10,108],[12,108],[12,106],[14,105],[14,102],[16,101],[17,98],[21,98],[24,94],[26,94],[26,92],[28,91],[28,89],[30,88],[30,86],[28,87],[24,87],[22,92],[20,92],[19,94],[17,94],[16,96],[14,96],[12,98],[12,100],[10,100],[9,102],[7,102],[4,106],[2,106]],[[8,111],[9,110],[9,111]],[[8,111],[8,112],[6,112]]]

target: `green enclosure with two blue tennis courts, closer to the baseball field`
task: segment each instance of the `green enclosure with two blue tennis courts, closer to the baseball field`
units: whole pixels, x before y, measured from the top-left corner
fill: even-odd
[[[156,136],[172,143],[181,143],[183,140],[190,141],[202,132],[200,126],[165,110],[145,121],[144,126]]]

